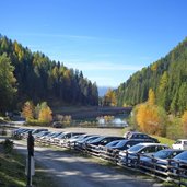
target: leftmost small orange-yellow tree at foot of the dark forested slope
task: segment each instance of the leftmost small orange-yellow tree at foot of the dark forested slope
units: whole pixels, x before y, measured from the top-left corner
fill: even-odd
[[[34,104],[32,101],[25,102],[22,108],[22,115],[25,117],[26,121],[34,119]]]

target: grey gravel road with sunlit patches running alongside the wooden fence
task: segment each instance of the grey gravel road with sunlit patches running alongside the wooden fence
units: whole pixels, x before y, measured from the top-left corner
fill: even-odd
[[[16,149],[26,153],[26,147]],[[50,148],[35,148],[35,160],[54,177],[55,187],[153,187],[153,180],[141,179],[129,173],[97,164],[91,159]],[[160,186],[160,185],[159,185]]]

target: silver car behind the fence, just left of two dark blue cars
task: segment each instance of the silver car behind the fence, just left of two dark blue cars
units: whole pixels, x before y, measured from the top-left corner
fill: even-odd
[[[163,149],[168,149],[168,145],[161,143],[139,143],[127,151],[119,152],[118,163],[121,165],[136,166],[140,162],[140,155],[154,153]]]

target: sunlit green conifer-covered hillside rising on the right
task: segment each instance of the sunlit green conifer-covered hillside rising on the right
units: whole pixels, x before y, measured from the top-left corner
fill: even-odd
[[[149,89],[155,92],[156,104],[168,113],[182,114],[187,108],[187,38],[122,83],[116,90],[118,105],[147,101]]]

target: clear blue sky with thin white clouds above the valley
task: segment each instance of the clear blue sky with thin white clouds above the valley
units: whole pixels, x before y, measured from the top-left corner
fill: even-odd
[[[186,0],[5,0],[0,33],[116,87],[187,36]]]

